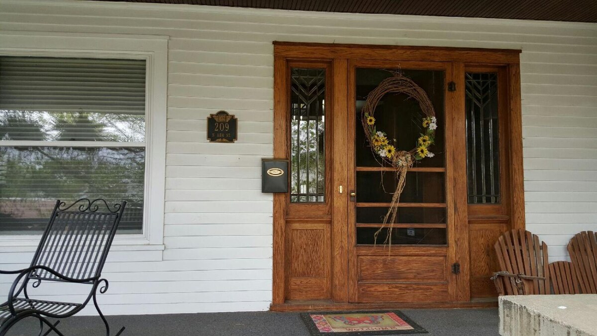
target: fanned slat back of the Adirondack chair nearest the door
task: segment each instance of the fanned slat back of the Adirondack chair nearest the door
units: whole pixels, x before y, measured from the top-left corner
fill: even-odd
[[[533,293],[549,294],[549,272],[547,271],[547,245],[539,237],[525,230],[511,230],[504,233],[494,245],[501,271],[527,276],[546,277],[533,280]],[[513,277],[501,277],[503,294],[518,295]]]

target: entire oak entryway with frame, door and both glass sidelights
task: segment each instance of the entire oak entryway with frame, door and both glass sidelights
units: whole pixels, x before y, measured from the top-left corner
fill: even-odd
[[[371,150],[361,109],[393,72],[423,88],[438,128],[435,155],[406,174],[391,233],[378,233],[396,172]],[[494,295],[493,237],[524,227],[518,52],[279,42],[274,74],[274,155],[290,160],[291,177],[289,193],[274,195],[272,308],[457,306]],[[487,91],[498,93],[499,114],[485,98],[465,99],[485,97],[468,86],[490,82],[500,83]],[[416,100],[384,94],[374,117],[399,150],[417,146]]]

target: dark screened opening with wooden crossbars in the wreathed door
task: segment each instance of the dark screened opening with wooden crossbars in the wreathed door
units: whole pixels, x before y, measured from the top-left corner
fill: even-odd
[[[401,225],[392,230],[392,245],[446,245],[445,74],[444,71],[427,70],[402,70],[402,74],[426,91],[435,109],[438,128],[435,143],[429,148],[435,157],[418,161],[414,169],[407,173],[400,198],[401,207],[398,208],[395,221],[395,224]],[[387,169],[387,166],[380,166],[377,154],[371,151],[361,123],[361,109],[367,95],[381,81],[392,76],[391,72],[384,69],[356,69],[355,219],[358,245],[381,245],[388,234],[384,228],[375,242],[374,234],[383,223],[398,181],[396,172]],[[402,93],[384,95],[374,117],[377,130],[386,132],[389,139],[395,139],[398,151],[416,148],[420,133],[425,132],[421,121],[426,115],[421,112],[415,99]],[[407,227],[408,224],[416,224],[416,227]]]

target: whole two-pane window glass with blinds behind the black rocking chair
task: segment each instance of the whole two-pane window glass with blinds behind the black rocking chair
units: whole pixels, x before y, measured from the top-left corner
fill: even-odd
[[[0,234],[82,197],[127,201],[119,233],[141,233],[145,106],[145,60],[0,56]]]

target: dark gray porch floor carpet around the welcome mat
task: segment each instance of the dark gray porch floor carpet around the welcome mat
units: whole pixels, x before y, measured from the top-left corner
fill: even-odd
[[[405,309],[402,310],[433,336],[498,335],[498,310],[487,309]],[[108,316],[112,335],[121,326],[122,336],[309,336],[298,313],[202,313],[169,315]],[[65,336],[105,336],[99,317],[70,317],[59,325]],[[23,322],[7,336],[37,335],[37,322]],[[50,334],[56,335],[56,334]]]

